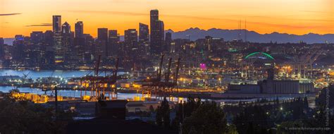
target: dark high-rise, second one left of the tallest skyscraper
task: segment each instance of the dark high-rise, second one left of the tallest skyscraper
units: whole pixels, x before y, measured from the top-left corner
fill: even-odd
[[[128,45],[129,47],[138,47],[138,35],[136,29],[128,29],[124,31],[124,42],[125,45]]]

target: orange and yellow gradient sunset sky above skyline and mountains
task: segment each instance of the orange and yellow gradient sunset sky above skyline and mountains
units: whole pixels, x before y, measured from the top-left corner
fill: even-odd
[[[158,9],[165,29],[238,29],[259,33],[303,35],[334,33],[334,0],[0,0],[0,37],[51,30],[52,16],[61,15],[74,30],[81,20],[84,32],[97,28],[138,29],[149,24],[149,11]]]

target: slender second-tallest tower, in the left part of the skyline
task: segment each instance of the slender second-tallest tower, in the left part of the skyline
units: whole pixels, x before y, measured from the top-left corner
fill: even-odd
[[[61,16],[53,16],[52,24],[54,32],[54,63],[62,65],[64,51],[61,42]]]

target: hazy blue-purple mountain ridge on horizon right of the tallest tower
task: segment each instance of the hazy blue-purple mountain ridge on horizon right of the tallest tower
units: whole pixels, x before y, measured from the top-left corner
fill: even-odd
[[[211,28],[209,30],[201,30],[199,28],[189,28],[184,31],[173,32],[173,30],[166,30],[165,32],[172,32],[173,39],[188,39],[190,35],[191,40],[201,39],[205,36],[220,37],[225,39],[225,41],[230,41],[237,39],[239,33],[241,32],[241,39],[245,39],[245,31],[247,32],[247,41],[249,42],[306,42],[308,44],[313,43],[324,43],[326,41],[334,43],[334,34],[319,35],[314,33],[309,33],[307,35],[290,35],[286,33],[273,32],[271,34],[259,34],[254,31],[248,30],[222,30],[217,28]]]

